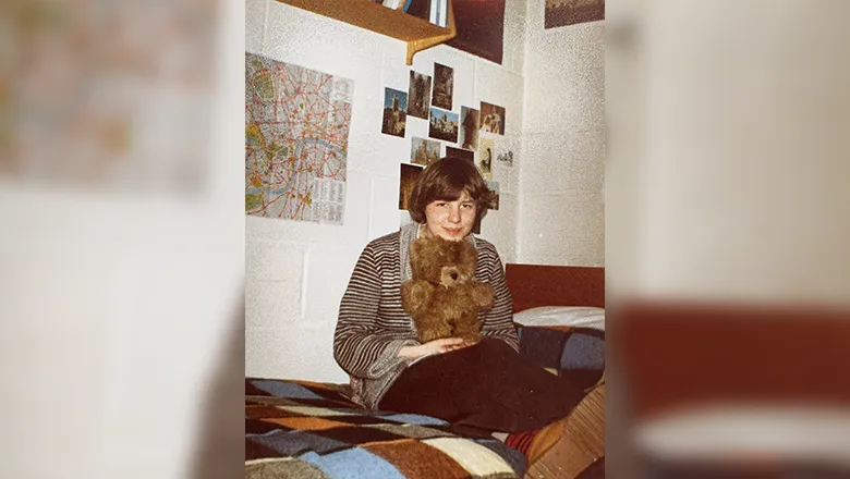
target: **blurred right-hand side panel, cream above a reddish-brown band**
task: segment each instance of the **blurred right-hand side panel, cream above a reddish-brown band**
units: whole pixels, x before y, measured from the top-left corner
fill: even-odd
[[[607,470],[850,476],[850,3],[607,8]]]

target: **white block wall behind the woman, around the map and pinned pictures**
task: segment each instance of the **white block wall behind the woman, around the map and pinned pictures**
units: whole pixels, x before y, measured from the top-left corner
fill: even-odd
[[[501,65],[439,46],[404,63],[403,42],[274,0],[246,1],[246,50],[353,79],[344,224],[246,218],[245,372],[344,382],[332,358],[339,300],[366,243],[399,228],[400,163],[427,122],[409,119],[405,138],[380,133],[384,88],[408,90],[409,71],[454,69],[453,111],[487,101],[507,109],[502,146],[518,152],[523,132],[525,0],[508,0]],[[497,144],[497,150],[498,150]],[[519,158],[519,163],[523,159]],[[519,170],[494,161],[500,208],[482,225],[505,262],[515,262]]]

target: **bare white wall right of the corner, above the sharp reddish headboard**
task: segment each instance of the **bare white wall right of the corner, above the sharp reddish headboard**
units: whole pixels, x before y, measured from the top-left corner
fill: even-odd
[[[527,2],[520,262],[605,265],[605,22],[543,28]]]

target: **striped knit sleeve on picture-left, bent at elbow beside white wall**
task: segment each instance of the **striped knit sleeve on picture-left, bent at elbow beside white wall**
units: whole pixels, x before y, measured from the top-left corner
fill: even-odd
[[[333,357],[355,378],[377,379],[406,359],[398,356],[404,345],[418,344],[399,339],[377,324],[381,296],[380,269],[373,245],[357,259],[342,296],[333,334]]]

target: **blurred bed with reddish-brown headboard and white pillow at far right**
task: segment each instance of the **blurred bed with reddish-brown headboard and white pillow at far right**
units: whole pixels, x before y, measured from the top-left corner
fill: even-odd
[[[617,310],[632,474],[850,477],[847,307],[632,299]]]

